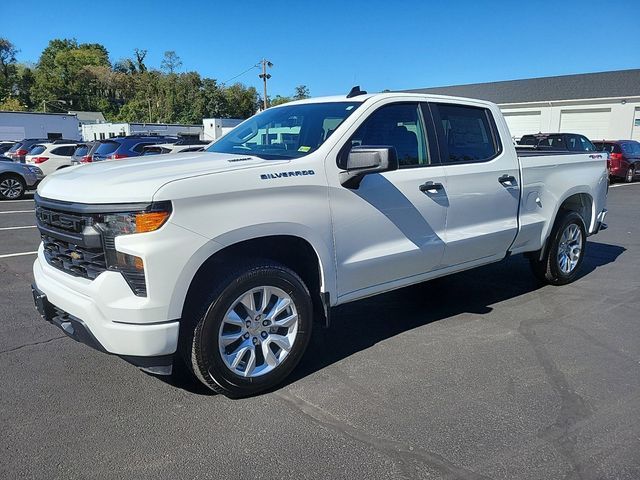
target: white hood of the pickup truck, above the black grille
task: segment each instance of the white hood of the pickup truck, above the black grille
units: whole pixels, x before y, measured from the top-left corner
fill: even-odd
[[[79,203],[150,202],[168,182],[245,168],[287,163],[248,155],[191,152],[149,155],[69,167],[47,176],[38,195]]]

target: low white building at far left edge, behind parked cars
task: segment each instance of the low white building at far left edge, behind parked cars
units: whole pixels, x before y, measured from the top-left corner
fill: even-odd
[[[80,139],[78,118],[69,113],[0,112],[0,140]]]

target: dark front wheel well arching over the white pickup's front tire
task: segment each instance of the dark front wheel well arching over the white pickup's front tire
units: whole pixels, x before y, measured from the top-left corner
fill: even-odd
[[[191,280],[182,308],[183,318],[189,315],[193,308],[197,308],[198,301],[206,295],[203,285],[211,285],[215,282],[229,265],[253,259],[279,262],[300,275],[311,293],[314,317],[326,323],[323,299],[320,295],[320,260],[309,242],[291,235],[273,235],[245,240],[225,247],[209,257]]]

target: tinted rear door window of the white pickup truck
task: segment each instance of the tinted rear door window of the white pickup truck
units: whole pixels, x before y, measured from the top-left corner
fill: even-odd
[[[449,103],[431,104],[431,107],[444,163],[488,161],[502,151],[488,109]]]

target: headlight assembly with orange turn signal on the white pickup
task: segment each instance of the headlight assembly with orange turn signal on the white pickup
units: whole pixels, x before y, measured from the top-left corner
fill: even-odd
[[[102,232],[107,268],[122,273],[133,293],[138,296],[147,295],[144,263],[140,257],[118,252],[115,238],[158,230],[170,215],[171,202],[159,202],[141,211],[104,213],[95,217],[95,226]]]

